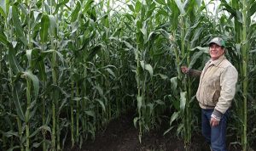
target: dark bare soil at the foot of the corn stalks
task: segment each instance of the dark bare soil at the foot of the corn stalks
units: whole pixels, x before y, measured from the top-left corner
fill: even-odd
[[[169,132],[163,136],[166,127],[149,131],[143,136],[143,143],[139,143],[138,130],[133,126],[134,115],[129,113],[111,121],[105,131],[96,134],[95,141],[87,141],[82,148],[68,148],[67,151],[185,151],[183,140]],[[193,134],[192,143],[187,151],[207,151],[209,147],[204,143],[201,134]],[[241,151],[241,146],[234,143],[234,138],[227,137],[229,151]],[[253,151],[253,149],[251,150]]]

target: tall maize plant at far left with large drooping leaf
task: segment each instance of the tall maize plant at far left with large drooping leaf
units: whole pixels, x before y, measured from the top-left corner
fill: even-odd
[[[26,5],[27,4],[27,5]],[[33,74],[36,70],[32,59],[35,53],[32,53],[32,25],[34,25],[34,16],[32,8],[35,3],[13,3],[4,2],[2,15],[5,17],[4,32],[1,34],[1,41],[5,45],[6,54],[9,62],[9,87],[12,97],[10,96],[10,106],[15,105],[15,112],[10,113],[17,117],[20,137],[20,149],[30,149],[30,139],[33,137],[32,117],[37,109],[37,98],[39,90],[38,77]],[[24,9],[20,9],[24,8]],[[11,10],[11,11],[10,11]],[[26,11],[27,10],[27,11]],[[9,21],[9,24],[8,22]],[[26,28],[23,30],[21,22],[26,22]],[[19,51],[17,51],[19,50]],[[21,53],[23,52],[23,54]],[[15,55],[20,53],[20,58],[16,59]],[[21,64],[19,64],[19,62]],[[26,67],[26,70],[23,68]],[[26,90],[26,92],[24,91]],[[22,102],[22,94],[26,94],[26,102]],[[33,123],[36,124],[36,123]],[[13,126],[11,126],[13,127]],[[25,128],[22,128],[25,127]],[[15,131],[15,129],[13,129]],[[25,134],[25,135],[24,135]],[[14,137],[15,135],[10,135]],[[17,148],[17,147],[14,147]]]

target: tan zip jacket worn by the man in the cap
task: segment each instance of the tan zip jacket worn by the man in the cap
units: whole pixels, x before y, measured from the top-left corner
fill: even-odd
[[[209,60],[201,72],[196,92],[201,109],[214,109],[213,114],[218,112],[217,116],[224,114],[235,96],[237,76],[236,68],[224,55]]]

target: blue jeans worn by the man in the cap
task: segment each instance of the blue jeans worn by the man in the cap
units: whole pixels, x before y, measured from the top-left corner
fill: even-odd
[[[212,151],[227,151],[226,128],[229,109],[222,116],[218,126],[210,126],[213,109],[201,109],[201,130],[207,143],[211,144]]]

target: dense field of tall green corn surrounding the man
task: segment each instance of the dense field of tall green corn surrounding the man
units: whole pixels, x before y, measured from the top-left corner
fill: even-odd
[[[239,72],[229,128],[246,151],[256,141],[256,1],[210,3],[0,0],[0,150],[81,147],[129,109],[141,143],[169,110],[165,133],[189,145],[198,79],[180,66],[202,70],[221,36]]]

